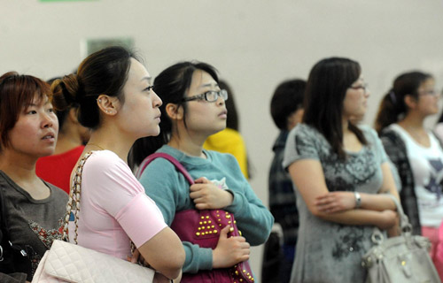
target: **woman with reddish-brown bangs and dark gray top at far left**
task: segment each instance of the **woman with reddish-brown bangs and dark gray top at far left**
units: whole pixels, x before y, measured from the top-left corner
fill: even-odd
[[[37,177],[54,152],[58,120],[50,86],[15,72],[0,77],[0,282],[31,281],[44,252],[61,239],[67,195]]]

